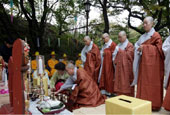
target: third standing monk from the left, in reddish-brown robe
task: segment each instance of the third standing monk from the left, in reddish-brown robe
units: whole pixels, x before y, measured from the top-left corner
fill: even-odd
[[[112,55],[115,68],[114,91],[117,95],[127,95],[134,97],[133,81],[133,44],[127,39],[126,32],[118,34],[119,44]]]

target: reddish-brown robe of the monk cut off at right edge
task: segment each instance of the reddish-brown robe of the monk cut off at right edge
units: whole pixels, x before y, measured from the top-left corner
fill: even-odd
[[[170,76],[169,76],[169,78],[170,78]],[[165,95],[162,106],[166,110],[170,111],[170,79],[169,79],[168,87],[167,87],[167,90],[166,90],[166,95]]]

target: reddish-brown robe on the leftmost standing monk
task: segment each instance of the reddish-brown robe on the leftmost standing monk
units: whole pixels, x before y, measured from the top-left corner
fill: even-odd
[[[89,76],[94,79],[96,83],[98,81],[100,64],[100,50],[97,45],[93,43],[92,49],[86,54],[86,62],[84,64],[84,69],[87,71]]]

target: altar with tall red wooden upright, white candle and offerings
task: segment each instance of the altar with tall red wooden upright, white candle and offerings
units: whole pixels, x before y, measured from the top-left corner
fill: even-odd
[[[14,42],[8,66],[10,104],[3,105],[0,114],[72,114],[65,106],[68,97],[48,89],[42,55],[36,57],[38,79],[31,80],[29,49],[24,40]]]

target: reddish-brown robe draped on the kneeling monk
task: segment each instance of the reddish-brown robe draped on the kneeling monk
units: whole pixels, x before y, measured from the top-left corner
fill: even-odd
[[[96,107],[105,102],[105,96],[100,93],[97,84],[83,68],[77,70],[77,80],[75,84],[77,84],[77,86],[69,98],[73,102],[72,109]]]

